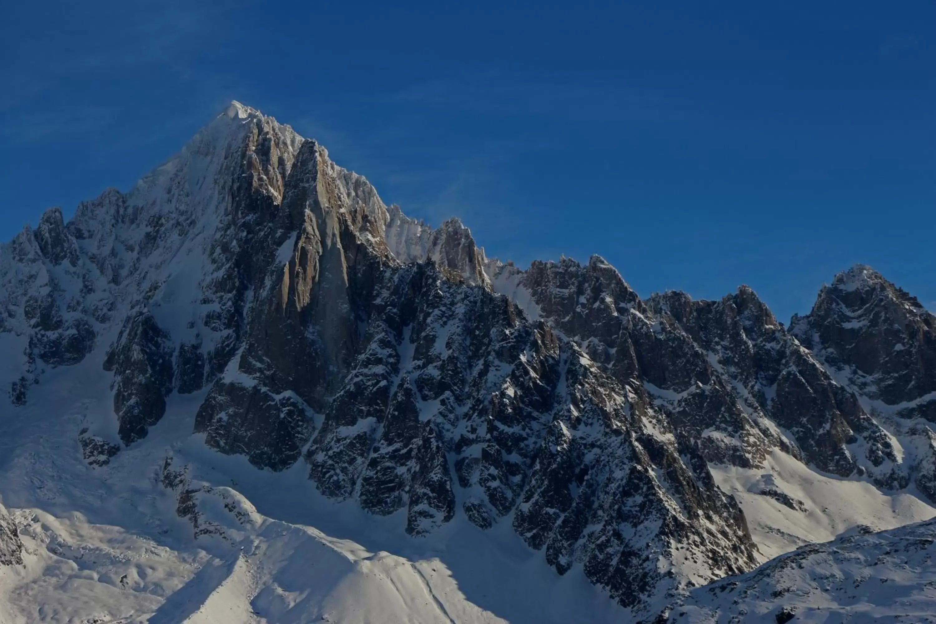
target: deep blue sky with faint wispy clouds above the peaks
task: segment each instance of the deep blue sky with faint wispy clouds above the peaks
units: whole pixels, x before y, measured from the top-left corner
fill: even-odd
[[[521,265],[785,322],[864,262],[936,310],[931,0],[7,4],[0,239],[238,99]]]

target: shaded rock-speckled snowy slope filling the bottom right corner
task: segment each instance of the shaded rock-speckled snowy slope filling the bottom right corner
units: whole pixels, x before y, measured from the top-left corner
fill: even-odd
[[[936,622],[936,522],[810,544],[692,592],[670,622]]]

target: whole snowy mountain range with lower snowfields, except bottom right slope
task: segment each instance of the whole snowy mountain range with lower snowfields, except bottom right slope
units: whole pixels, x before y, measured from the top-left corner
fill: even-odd
[[[936,515],[936,318],[870,268],[790,329],[521,270],[238,103],[0,247],[0,312],[10,621],[650,620]]]

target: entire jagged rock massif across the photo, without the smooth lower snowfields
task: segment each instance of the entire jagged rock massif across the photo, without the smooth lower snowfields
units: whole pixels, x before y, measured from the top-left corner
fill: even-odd
[[[936,326],[870,269],[837,277],[792,331],[744,286],[642,299],[598,256],[520,270],[239,104],[128,193],[67,225],[47,212],[0,248],[0,286],[13,404],[46,367],[103,360],[124,444],[190,395],[222,453],[301,462],[330,498],[405,510],[414,536],[458,515],[509,523],[636,617],[756,562],[709,465],[756,469],[780,449],[936,501],[936,435],[907,421],[929,418]],[[80,445],[97,466],[120,448],[86,431]],[[169,463],[163,478],[205,529],[204,490]]]

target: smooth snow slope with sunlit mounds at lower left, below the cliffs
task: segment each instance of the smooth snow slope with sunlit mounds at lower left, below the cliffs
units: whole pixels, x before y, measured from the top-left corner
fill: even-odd
[[[3,624],[622,621],[510,531],[455,521],[415,539],[302,470],[217,454],[188,433],[197,396],[89,467],[76,435],[110,402],[95,368],[54,375],[22,419],[0,420],[0,494],[24,546],[22,566],[0,566]]]

